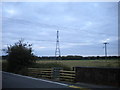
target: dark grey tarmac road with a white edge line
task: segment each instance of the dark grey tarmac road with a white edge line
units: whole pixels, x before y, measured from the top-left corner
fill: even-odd
[[[70,88],[68,84],[2,72],[2,88]]]

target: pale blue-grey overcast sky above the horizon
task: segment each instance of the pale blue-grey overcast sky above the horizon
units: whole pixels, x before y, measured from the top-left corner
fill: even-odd
[[[3,48],[23,38],[38,56],[54,56],[59,30],[61,55],[118,55],[117,2],[6,2]]]

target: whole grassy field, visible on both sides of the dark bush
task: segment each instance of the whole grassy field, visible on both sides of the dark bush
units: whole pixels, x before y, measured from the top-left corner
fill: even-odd
[[[1,61],[0,61],[1,63]],[[1,66],[1,65],[0,65]],[[37,60],[32,68],[63,67],[72,70],[73,67],[120,67],[120,60]],[[6,60],[2,62],[2,68],[6,69]]]

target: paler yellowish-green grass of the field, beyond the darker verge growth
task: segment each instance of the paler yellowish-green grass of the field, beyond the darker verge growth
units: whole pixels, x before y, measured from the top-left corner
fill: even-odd
[[[39,60],[38,64],[57,63],[69,68],[76,66],[90,66],[90,67],[120,67],[120,60]]]

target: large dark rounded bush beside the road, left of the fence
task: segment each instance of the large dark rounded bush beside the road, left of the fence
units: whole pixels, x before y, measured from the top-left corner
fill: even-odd
[[[6,53],[8,53],[7,70],[10,72],[17,72],[33,64],[35,61],[32,53],[32,44],[24,43],[23,40],[19,40],[14,45],[8,46]]]

